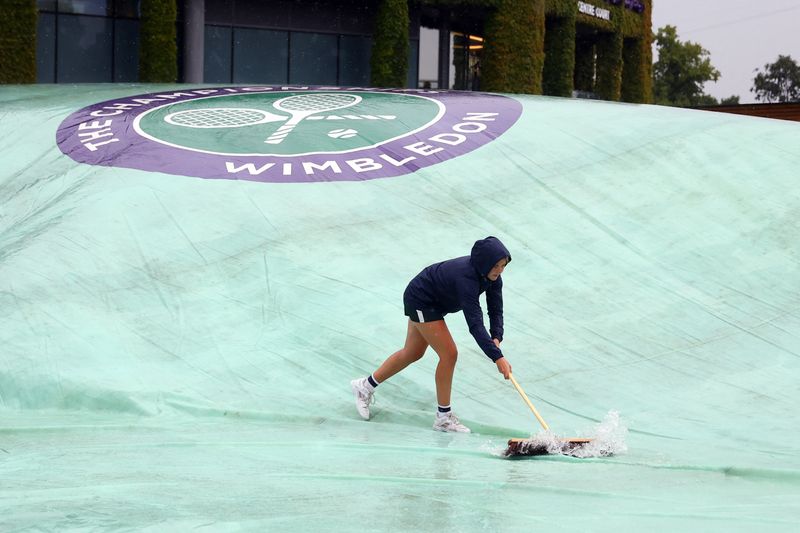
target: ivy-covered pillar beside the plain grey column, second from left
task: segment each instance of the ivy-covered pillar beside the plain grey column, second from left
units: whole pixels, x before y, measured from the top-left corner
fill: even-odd
[[[139,81],[174,83],[178,80],[175,0],[142,0],[139,26]]]

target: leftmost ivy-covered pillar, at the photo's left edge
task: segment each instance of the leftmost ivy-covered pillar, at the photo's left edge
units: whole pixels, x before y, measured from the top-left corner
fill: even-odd
[[[36,83],[36,0],[0,2],[0,83]]]

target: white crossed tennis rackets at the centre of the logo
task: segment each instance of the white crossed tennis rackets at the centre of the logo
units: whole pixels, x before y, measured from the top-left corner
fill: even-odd
[[[285,116],[261,109],[218,107],[178,111],[164,117],[164,121],[187,128],[241,128],[286,120],[286,123],[282,124],[264,141],[267,144],[280,144],[300,122],[312,115],[338,111],[354,106],[361,100],[360,96],[354,94],[299,94],[281,98],[272,104],[276,110],[289,113],[288,120]]]

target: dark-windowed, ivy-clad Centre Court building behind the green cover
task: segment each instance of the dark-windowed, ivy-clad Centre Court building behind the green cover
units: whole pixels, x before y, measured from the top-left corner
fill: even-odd
[[[407,87],[650,98],[652,0],[7,1],[35,3],[29,82],[375,85],[384,10],[408,28]],[[142,80],[154,11],[171,80]]]

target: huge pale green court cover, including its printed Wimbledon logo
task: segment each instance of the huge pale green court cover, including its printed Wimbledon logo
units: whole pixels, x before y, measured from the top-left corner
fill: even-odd
[[[338,87],[0,89],[0,530],[795,531],[800,125]],[[402,346],[494,235],[514,375]],[[607,455],[605,452],[612,452]],[[603,452],[603,453],[601,453]]]

